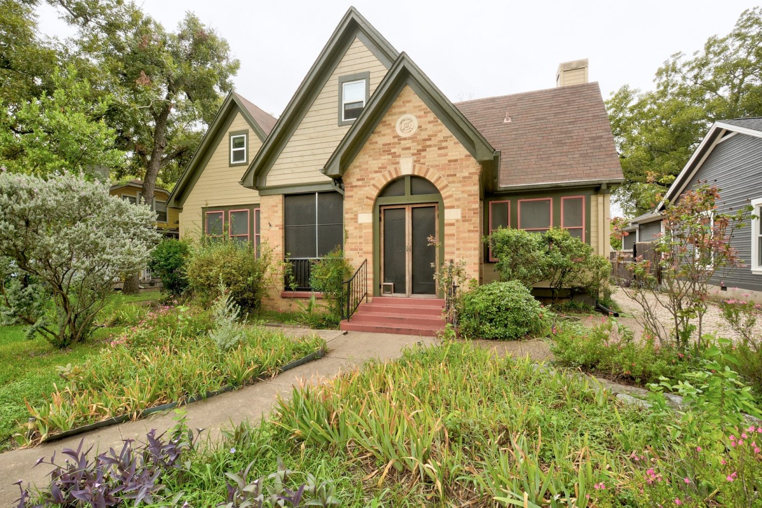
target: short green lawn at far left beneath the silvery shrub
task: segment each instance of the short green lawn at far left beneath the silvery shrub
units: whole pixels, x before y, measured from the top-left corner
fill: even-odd
[[[114,295],[104,315],[127,305],[148,305],[160,297],[158,292],[142,292],[136,296]],[[82,363],[97,353],[104,342],[120,328],[98,328],[86,343],[59,350],[43,337],[27,340],[23,326],[0,327],[0,451],[12,445],[11,436],[18,433],[18,422],[28,418],[24,401],[37,404],[43,395],[53,391],[53,384],[62,384],[56,366]]]

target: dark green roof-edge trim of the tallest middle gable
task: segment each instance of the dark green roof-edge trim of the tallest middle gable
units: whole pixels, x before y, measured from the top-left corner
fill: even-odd
[[[291,101],[278,118],[270,136],[267,136],[264,145],[248,166],[241,179],[241,184],[244,187],[252,189],[264,187],[267,171],[277,159],[280,150],[286,145],[293,131],[299,126],[306,110],[315,101],[315,97],[325,85],[325,81],[328,80],[328,76],[331,75],[356,37],[387,68],[399,55],[389,41],[379,34],[379,31],[368,23],[357,9],[350,7],[331,34],[331,38],[328,39],[328,43],[323,47],[315,63],[312,64],[299,88],[296,89],[296,93],[291,97]]]

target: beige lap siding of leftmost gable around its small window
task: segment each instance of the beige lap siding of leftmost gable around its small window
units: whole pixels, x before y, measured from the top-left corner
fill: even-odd
[[[193,238],[203,228],[201,209],[214,206],[251,205],[259,203],[259,193],[239,184],[245,165],[230,165],[230,136],[228,133],[248,129],[248,161],[257,154],[261,142],[243,115],[235,114],[228,132],[222,137],[198,181],[183,203],[180,213],[181,238]]]

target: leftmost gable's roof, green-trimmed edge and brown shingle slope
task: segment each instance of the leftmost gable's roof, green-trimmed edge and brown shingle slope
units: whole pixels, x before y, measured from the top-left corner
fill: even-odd
[[[210,155],[219,145],[219,141],[223,138],[227,127],[238,111],[241,112],[261,142],[267,139],[267,135],[271,132],[277,121],[274,117],[265,113],[264,110],[251,103],[251,101],[245,99],[241,94],[235,91],[230,92],[225,97],[223,105],[219,107],[219,111],[217,111],[214,120],[210,123],[207,133],[203,135],[191,161],[169,195],[167,200],[168,206],[176,208],[183,206],[187,194],[190,193],[201,171],[203,171],[203,166],[208,159],[207,155]]]

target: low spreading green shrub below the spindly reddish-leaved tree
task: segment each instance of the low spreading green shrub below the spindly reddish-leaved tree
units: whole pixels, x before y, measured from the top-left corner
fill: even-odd
[[[570,323],[555,331],[550,347],[555,363],[639,385],[662,376],[674,379],[696,365],[690,355],[658,347],[651,335],[635,340],[613,318],[601,318],[593,327]]]

